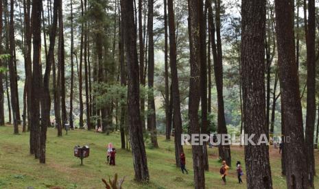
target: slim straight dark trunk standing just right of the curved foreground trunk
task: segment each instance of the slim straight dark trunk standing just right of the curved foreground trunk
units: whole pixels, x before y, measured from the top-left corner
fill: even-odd
[[[148,99],[147,99],[147,129],[151,134],[151,142],[158,148],[156,136],[156,110],[154,101],[154,40],[153,40],[153,15],[154,0],[148,0],[147,32],[148,32]]]

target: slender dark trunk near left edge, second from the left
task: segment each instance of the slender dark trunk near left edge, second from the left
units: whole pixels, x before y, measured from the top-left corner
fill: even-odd
[[[18,91],[16,90],[16,68],[14,66],[15,56],[14,56],[14,0],[10,1],[10,61],[9,61],[9,73],[10,73],[10,91],[11,91],[11,105],[12,105],[12,116],[14,124],[14,134],[19,134],[19,117],[18,116],[18,104],[17,97]]]

